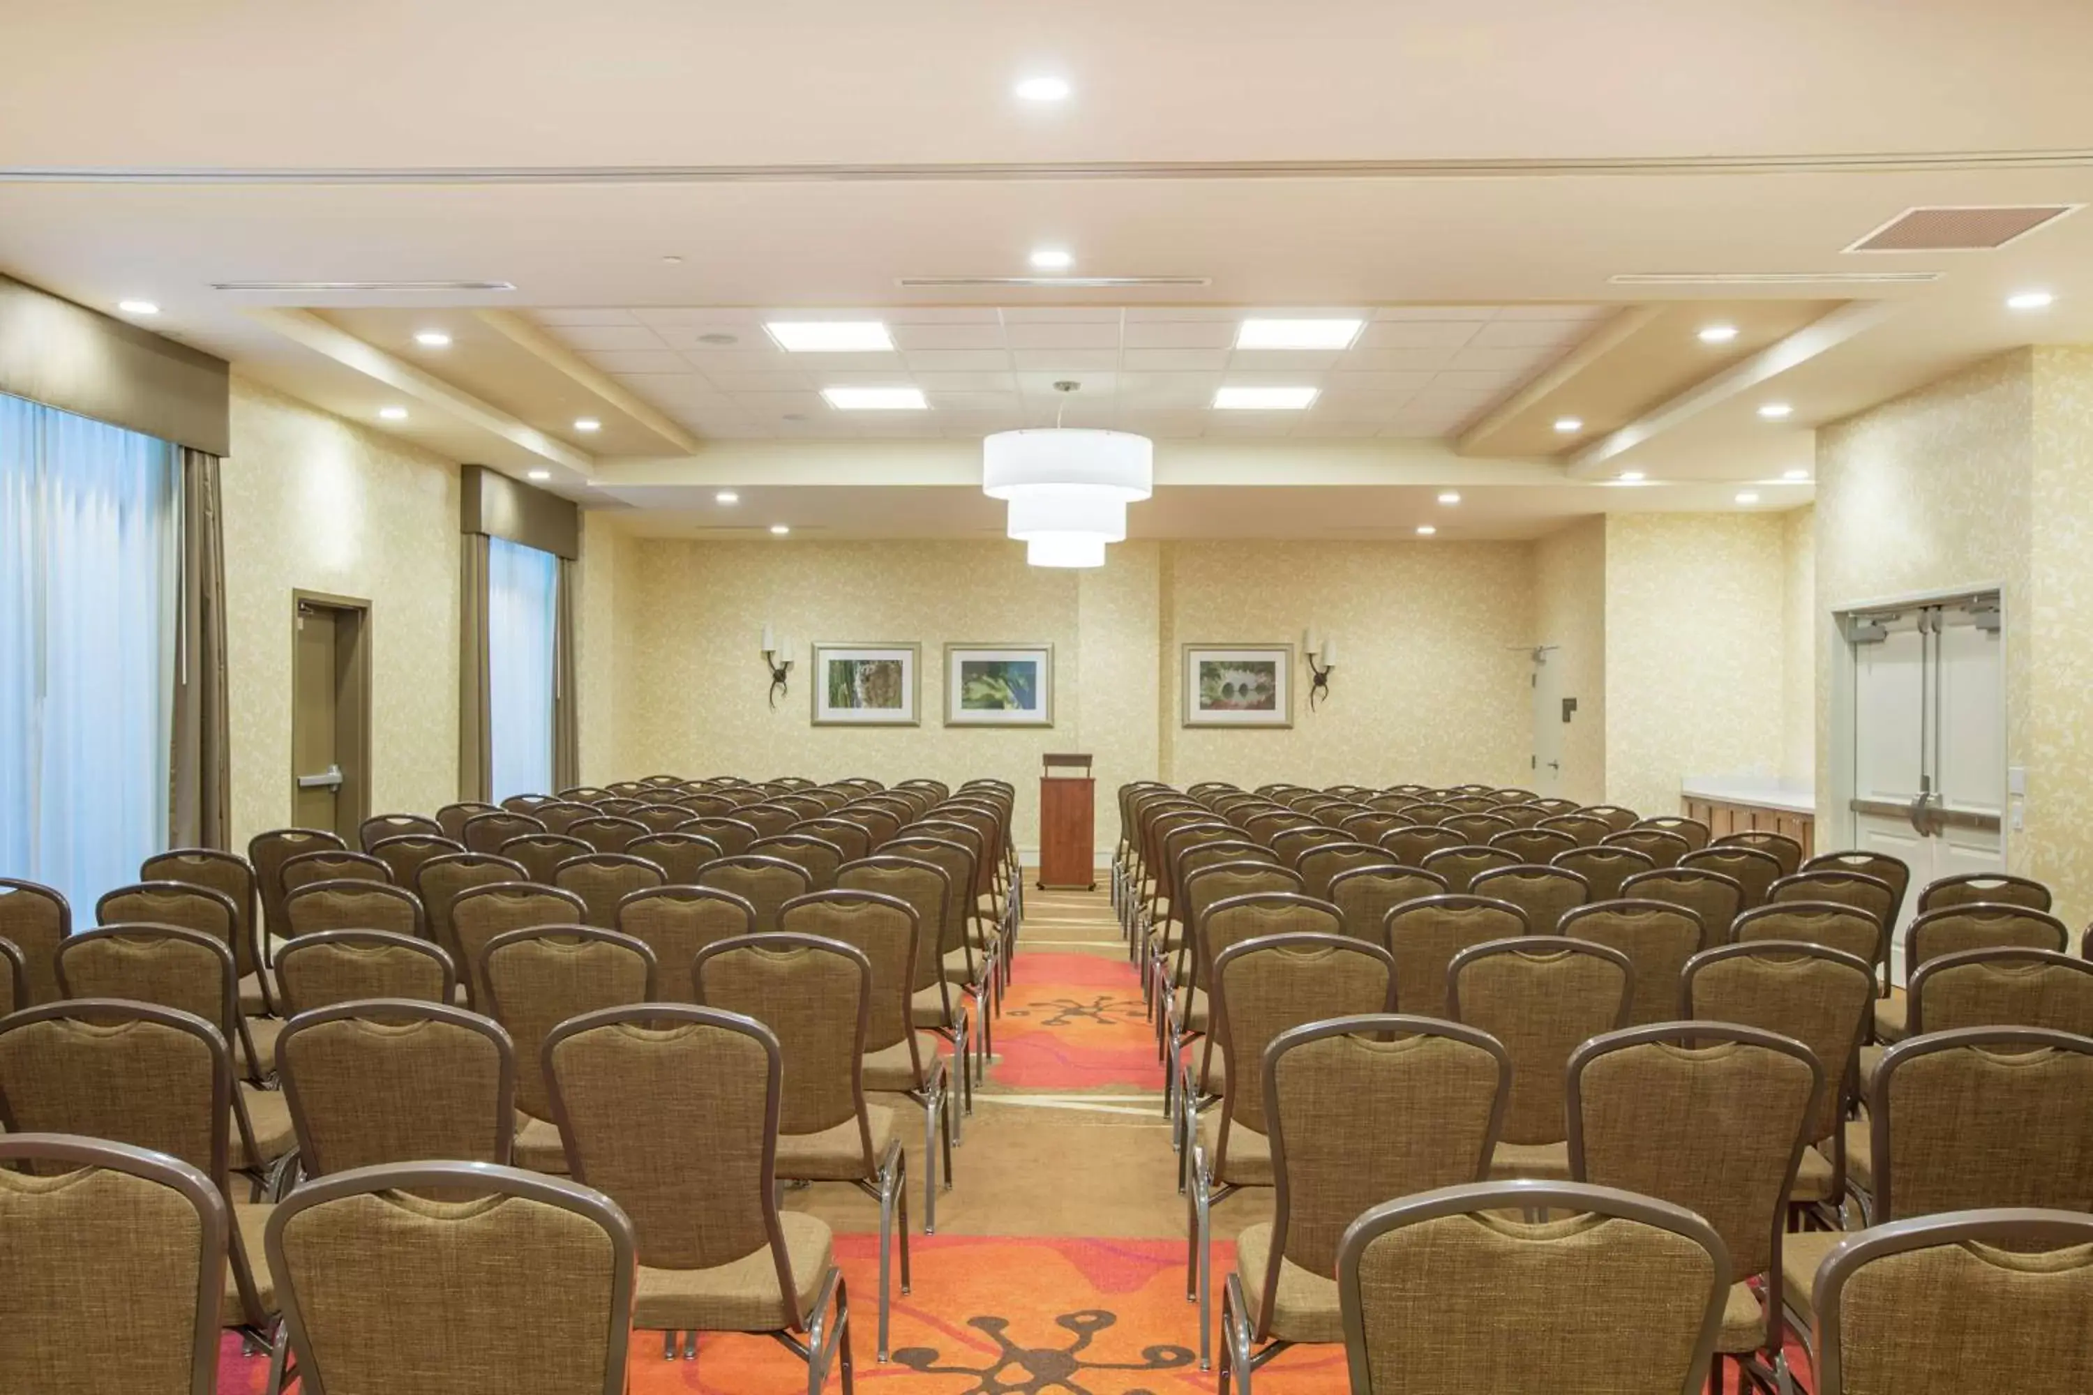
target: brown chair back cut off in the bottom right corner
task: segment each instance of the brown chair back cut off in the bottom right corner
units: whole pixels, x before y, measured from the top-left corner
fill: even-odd
[[[1825,1257],[1810,1311],[1819,1395],[2093,1389],[2093,1217],[1990,1209],[1875,1226]]]

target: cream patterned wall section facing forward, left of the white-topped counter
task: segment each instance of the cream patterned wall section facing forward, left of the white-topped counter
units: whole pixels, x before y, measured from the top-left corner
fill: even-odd
[[[1605,795],[1679,809],[1681,776],[1779,774],[1779,514],[1605,519]]]

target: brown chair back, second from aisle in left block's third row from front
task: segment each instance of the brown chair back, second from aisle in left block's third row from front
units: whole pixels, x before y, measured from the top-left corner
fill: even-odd
[[[483,1010],[509,1031],[517,1054],[517,1108],[550,1119],[542,1046],[555,1027],[599,1008],[649,1002],[653,950],[592,924],[504,931],[479,956]]]

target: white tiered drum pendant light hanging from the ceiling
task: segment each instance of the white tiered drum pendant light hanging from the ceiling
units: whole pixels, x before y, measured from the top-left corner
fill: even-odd
[[[1072,393],[1076,383],[1055,383]],[[982,441],[982,494],[1009,502],[1009,535],[1034,567],[1103,567],[1126,542],[1126,506],[1155,491],[1155,443],[1128,431],[1053,427]]]

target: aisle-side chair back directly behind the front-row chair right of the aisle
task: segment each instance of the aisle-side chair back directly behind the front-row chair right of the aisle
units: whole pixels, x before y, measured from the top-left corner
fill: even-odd
[[[1488,1033],[1421,1016],[1367,1014],[1291,1027],[1264,1048],[1273,1259],[1337,1276],[1337,1242],[1363,1211],[1488,1175],[1511,1060]]]

